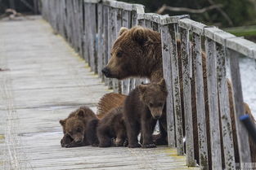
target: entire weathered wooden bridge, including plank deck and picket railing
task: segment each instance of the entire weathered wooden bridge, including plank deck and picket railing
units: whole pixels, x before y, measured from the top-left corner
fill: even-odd
[[[149,14],[144,13],[141,5],[112,0],[43,0],[41,11],[52,28],[40,17],[0,22],[3,169],[186,169],[189,166],[217,170],[241,168],[246,165],[243,163],[251,162],[248,133],[239,120],[245,111],[238,59],[240,55],[256,59],[253,42],[190,20],[189,15]],[[61,148],[58,120],[81,105],[95,111],[98,99],[110,89],[128,94],[145,81],[138,78],[117,81],[101,74],[119,28],[137,24],[161,33],[164,79],[168,86],[169,147]],[[182,68],[177,65],[177,39],[181,40]],[[202,49],[207,59],[209,100],[206,102]],[[182,69],[183,94],[179,69]],[[231,75],[227,75],[229,69]],[[236,106],[233,117],[227,77],[233,85],[232,102]],[[192,97],[196,98],[195,115]],[[182,102],[186,106],[184,113]],[[204,103],[209,106],[208,118]],[[194,145],[195,140],[198,146]],[[236,153],[239,158],[235,160]],[[196,156],[199,156],[197,162]]]

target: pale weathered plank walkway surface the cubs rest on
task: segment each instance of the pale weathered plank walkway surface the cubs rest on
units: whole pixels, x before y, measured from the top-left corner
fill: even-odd
[[[109,91],[40,17],[0,21],[0,68],[1,169],[187,169],[168,147],[61,148],[58,120]]]

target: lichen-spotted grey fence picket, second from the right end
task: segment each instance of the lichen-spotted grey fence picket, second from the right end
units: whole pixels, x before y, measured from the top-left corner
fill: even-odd
[[[235,169],[235,151],[233,145],[233,136],[231,129],[231,114],[227,89],[226,72],[226,49],[224,46],[216,43],[217,55],[217,75],[218,75],[218,98],[219,111],[222,122],[222,142],[224,149],[224,159],[226,169]]]

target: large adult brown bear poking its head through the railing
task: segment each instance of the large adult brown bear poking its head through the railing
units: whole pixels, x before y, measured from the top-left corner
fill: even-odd
[[[182,99],[182,72],[181,72],[181,54],[180,43],[177,41],[177,55],[179,63],[180,73],[180,85],[181,85],[181,99]],[[206,77],[206,57],[202,53],[203,71],[204,71],[204,99],[205,99],[205,115],[207,121],[209,121],[209,109],[208,109],[208,95],[207,95],[207,77]],[[163,78],[162,68],[162,51],[161,51],[161,37],[160,34],[150,30],[149,28],[142,28],[139,26],[131,29],[121,28],[119,37],[116,39],[114,46],[111,49],[111,59],[107,63],[106,67],[102,69],[105,76],[110,78],[117,78],[122,80],[131,76],[139,76],[149,78],[151,82],[158,82]],[[195,81],[191,82],[191,89],[195,89]],[[193,112],[193,126],[195,135],[195,148],[198,148],[197,137],[197,124],[196,124],[196,106],[195,106],[195,90],[192,90],[192,112]],[[233,107],[233,106],[231,106]],[[183,106],[182,106],[182,112]],[[184,120],[184,119],[183,119]],[[166,123],[166,122],[164,122]],[[164,124],[163,123],[163,124]],[[160,124],[161,125],[161,124]],[[184,124],[183,124],[184,125]],[[161,126],[160,126],[161,128]],[[166,130],[166,126],[162,126]],[[209,124],[207,126],[209,132]],[[161,130],[161,134],[164,130]],[[166,132],[165,132],[166,133]],[[185,132],[184,132],[185,133]],[[160,135],[159,141],[164,141],[165,136]],[[208,133],[209,142],[209,133]],[[166,141],[166,140],[165,140]],[[236,142],[236,140],[235,140]],[[210,145],[209,145],[210,146]],[[210,147],[209,147],[210,150]],[[195,153],[196,154],[196,153]],[[210,155],[210,151],[209,151]],[[252,154],[253,155],[253,154]],[[195,158],[199,158],[199,155],[195,155]],[[209,157],[210,158],[210,157]]]

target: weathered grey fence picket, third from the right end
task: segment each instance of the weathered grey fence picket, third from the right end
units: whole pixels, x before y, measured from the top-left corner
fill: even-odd
[[[208,37],[205,39],[205,51],[207,56],[207,88],[209,100],[209,127],[211,138],[211,159],[213,169],[222,169],[222,155],[220,144],[220,129],[218,115],[218,85],[216,69],[215,42]]]

